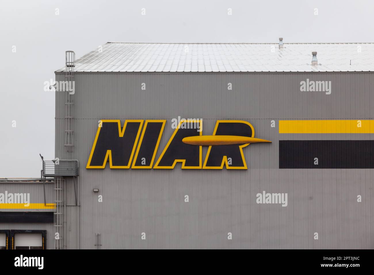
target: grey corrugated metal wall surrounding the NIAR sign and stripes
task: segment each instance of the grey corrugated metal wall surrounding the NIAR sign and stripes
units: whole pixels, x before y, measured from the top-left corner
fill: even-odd
[[[300,92],[306,79],[331,81],[331,95]],[[80,162],[81,248],[95,248],[96,232],[102,248],[374,248],[371,169],[278,169],[279,140],[373,139],[279,134],[278,120],[373,118],[374,74],[77,73],[75,80],[74,152],[63,146],[65,93],[56,93],[55,139],[56,157]],[[212,134],[217,119],[246,120],[255,137],[273,143],[243,149],[243,171],[85,168],[98,120],[168,119],[157,159],[173,131],[170,119],[178,116],[203,119],[204,135]],[[263,190],[288,193],[288,206],[257,204]],[[71,211],[68,248],[76,248]]]

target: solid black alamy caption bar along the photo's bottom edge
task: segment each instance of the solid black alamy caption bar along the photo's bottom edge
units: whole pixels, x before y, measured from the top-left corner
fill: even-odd
[[[0,266],[6,272],[70,272],[79,264],[86,273],[106,272],[122,268],[135,271],[154,271],[163,257],[164,271],[177,270],[188,266],[191,253],[196,255],[194,263],[203,271],[240,272],[259,267],[264,272],[275,273],[304,272],[325,270],[324,273],[347,271],[361,274],[373,267],[373,250],[184,250],[184,251],[124,251],[124,250],[0,250]],[[217,262],[207,262],[204,255],[209,254]],[[158,256],[158,257],[157,257]],[[30,258],[31,257],[31,258]],[[235,257],[234,264],[222,264],[228,257]],[[131,263],[131,264],[130,264]],[[14,269],[14,271],[13,271]],[[225,270],[226,269],[226,270]],[[17,273],[17,274],[18,274]],[[305,273],[305,272],[304,272]]]

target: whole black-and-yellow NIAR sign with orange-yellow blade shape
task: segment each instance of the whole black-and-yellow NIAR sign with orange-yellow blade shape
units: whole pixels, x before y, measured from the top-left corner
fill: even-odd
[[[153,166],[166,120],[126,120],[122,129],[119,119],[101,122],[86,168],[109,162],[111,169],[173,169],[181,162],[182,169],[247,169],[243,148],[271,142],[255,138],[253,126],[243,120],[217,120],[213,135],[202,135],[202,120],[181,120]],[[204,163],[202,146],[209,146]]]

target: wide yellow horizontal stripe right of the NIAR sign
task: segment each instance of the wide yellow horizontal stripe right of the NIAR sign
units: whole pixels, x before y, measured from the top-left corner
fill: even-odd
[[[279,133],[373,134],[374,120],[279,120]]]

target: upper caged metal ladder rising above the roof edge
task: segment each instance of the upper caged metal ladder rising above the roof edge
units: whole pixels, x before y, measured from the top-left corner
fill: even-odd
[[[72,82],[74,81],[75,53],[73,51],[65,52],[65,80],[66,85],[66,101],[65,101],[65,143],[67,152],[73,150],[73,95],[70,93]],[[75,85],[74,85],[75,87]]]

